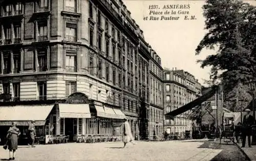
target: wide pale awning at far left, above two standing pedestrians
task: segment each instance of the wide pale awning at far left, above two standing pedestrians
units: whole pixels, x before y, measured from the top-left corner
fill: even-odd
[[[36,121],[36,126],[45,125],[52,108],[53,105],[0,107],[0,126],[10,126],[12,122],[18,126],[28,126],[32,120]]]

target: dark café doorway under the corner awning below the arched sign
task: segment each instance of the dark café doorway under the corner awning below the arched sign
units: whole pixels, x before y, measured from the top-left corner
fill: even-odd
[[[65,118],[65,135],[69,135],[69,140],[74,141],[77,134],[77,119]]]

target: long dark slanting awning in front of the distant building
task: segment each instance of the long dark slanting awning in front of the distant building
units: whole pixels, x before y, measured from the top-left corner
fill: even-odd
[[[186,112],[187,110],[192,109],[195,106],[201,105],[204,101],[206,101],[207,99],[209,99],[215,95],[217,88],[218,88],[218,86],[213,86],[213,87],[209,88],[209,90],[206,92],[205,95],[197,98],[196,100],[194,100],[192,102],[189,102],[188,104],[186,104],[176,110],[166,113],[165,119],[173,119],[175,116],[177,116],[183,112]]]

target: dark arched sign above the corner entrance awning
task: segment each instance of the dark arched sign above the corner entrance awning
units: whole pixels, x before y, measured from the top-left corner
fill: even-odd
[[[70,95],[67,98],[66,103],[70,103],[70,104],[88,104],[89,99],[88,99],[88,96],[86,96],[83,93],[74,93],[74,94]]]

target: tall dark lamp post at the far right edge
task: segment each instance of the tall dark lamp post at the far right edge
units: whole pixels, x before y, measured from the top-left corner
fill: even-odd
[[[252,132],[251,145],[256,145],[256,125],[255,125],[255,109],[254,109],[255,90],[256,90],[255,81],[251,81],[249,85],[250,85],[250,91],[252,94],[252,113],[253,113],[253,125],[251,127],[251,132]]]

